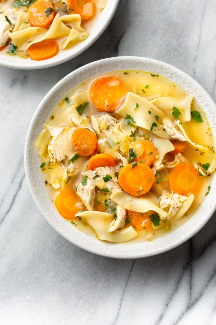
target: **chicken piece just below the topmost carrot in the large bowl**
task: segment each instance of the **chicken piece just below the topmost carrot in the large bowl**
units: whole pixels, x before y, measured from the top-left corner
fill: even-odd
[[[97,136],[101,139],[116,133],[116,124],[118,120],[110,114],[93,116],[92,124]]]

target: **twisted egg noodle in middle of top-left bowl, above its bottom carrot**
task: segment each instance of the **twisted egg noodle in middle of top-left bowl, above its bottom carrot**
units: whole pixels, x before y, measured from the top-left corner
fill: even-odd
[[[29,27],[29,28],[33,28],[33,27]],[[35,28],[38,28],[38,27],[35,27]],[[29,42],[26,45],[25,49],[27,50],[28,47],[31,46],[32,44],[39,43],[45,39],[57,39],[57,38],[67,36],[70,34],[70,31],[71,31],[70,28],[63,24],[62,20],[60,19],[59,14],[57,14],[55,16],[55,18],[53,19],[53,22],[51,23],[49,30],[46,30],[46,32],[44,33],[44,35],[42,37],[38,37],[38,38],[34,39],[32,42]]]

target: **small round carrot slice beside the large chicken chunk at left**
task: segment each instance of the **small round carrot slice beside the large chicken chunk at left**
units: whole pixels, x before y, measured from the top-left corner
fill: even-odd
[[[78,155],[91,156],[97,150],[97,136],[84,127],[74,131],[72,141]]]

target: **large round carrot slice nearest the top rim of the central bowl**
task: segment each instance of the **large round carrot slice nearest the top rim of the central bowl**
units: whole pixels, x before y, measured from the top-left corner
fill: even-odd
[[[90,88],[90,97],[99,111],[114,112],[127,89],[121,79],[108,76],[96,79]]]

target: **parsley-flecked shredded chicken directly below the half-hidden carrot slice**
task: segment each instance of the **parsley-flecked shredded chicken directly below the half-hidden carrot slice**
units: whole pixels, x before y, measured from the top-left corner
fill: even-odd
[[[115,173],[116,170],[114,167],[98,167],[94,170],[88,170],[85,173],[82,173],[83,177],[87,176],[86,185],[83,186],[82,182],[80,182],[76,194],[81,198],[88,210],[93,210],[96,186],[99,189],[107,187],[110,193],[117,189],[121,189]],[[96,175],[99,176],[94,178]],[[110,175],[112,179],[105,182],[103,177],[106,175]]]

